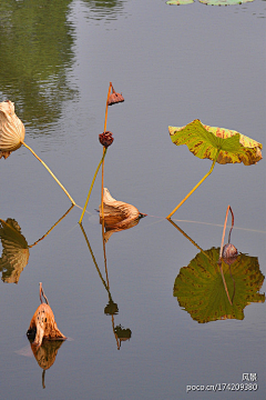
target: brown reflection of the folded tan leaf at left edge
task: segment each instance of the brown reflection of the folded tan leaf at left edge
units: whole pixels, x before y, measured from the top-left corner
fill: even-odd
[[[7,221],[0,219],[0,239],[3,248],[0,258],[2,281],[18,283],[20,273],[28,264],[30,252],[21,228],[14,219],[8,218]]]

